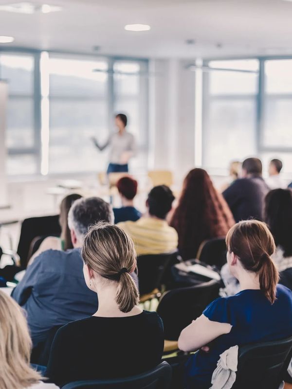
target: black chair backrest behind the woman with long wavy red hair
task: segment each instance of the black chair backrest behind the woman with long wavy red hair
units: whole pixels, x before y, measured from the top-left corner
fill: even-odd
[[[226,263],[225,238],[214,238],[204,241],[198,251],[197,259],[219,269]]]

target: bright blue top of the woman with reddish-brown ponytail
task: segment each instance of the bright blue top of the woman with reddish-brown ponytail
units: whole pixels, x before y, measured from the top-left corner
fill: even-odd
[[[273,341],[292,336],[292,291],[277,285],[274,304],[260,290],[243,290],[235,296],[219,298],[203,315],[212,321],[229,323],[229,334],[210,344],[210,351],[193,354],[185,365],[186,388],[208,389],[219,355],[235,345]]]

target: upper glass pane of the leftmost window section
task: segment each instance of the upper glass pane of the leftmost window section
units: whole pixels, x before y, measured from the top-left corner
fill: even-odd
[[[9,94],[32,95],[34,89],[33,56],[0,54],[0,78],[8,80]]]

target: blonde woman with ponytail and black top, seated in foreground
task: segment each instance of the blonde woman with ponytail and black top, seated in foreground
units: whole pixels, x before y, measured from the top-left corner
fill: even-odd
[[[63,386],[154,368],[163,354],[163,323],[156,312],[138,307],[139,292],[130,275],[137,265],[132,240],[119,227],[98,223],[85,236],[81,255],[98,309],[92,317],[58,330],[46,376]]]

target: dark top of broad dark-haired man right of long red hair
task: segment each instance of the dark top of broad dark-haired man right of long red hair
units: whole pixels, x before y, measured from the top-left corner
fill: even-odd
[[[223,192],[236,222],[263,220],[264,198],[270,188],[262,177],[238,178]]]

